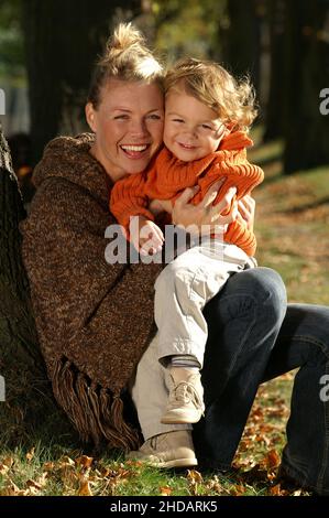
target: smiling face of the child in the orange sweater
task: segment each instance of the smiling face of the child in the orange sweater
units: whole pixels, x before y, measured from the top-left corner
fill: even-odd
[[[184,91],[169,91],[165,102],[164,143],[184,162],[213,153],[227,132],[217,112]]]

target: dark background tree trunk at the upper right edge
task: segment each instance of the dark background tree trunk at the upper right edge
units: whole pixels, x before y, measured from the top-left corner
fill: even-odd
[[[329,85],[329,6],[287,1],[284,171],[329,163],[329,117],[320,112],[320,91]]]

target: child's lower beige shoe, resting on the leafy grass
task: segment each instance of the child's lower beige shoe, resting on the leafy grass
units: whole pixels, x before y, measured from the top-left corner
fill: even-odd
[[[125,458],[142,461],[153,467],[190,467],[198,464],[190,430],[154,435],[138,452],[130,452]]]

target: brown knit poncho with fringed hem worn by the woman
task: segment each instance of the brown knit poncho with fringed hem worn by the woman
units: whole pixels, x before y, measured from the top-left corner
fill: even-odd
[[[109,185],[89,153],[94,136],[59,137],[45,149],[21,229],[23,260],[54,395],[83,440],[136,447],[122,390],[155,331],[161,265],[108,265]]]

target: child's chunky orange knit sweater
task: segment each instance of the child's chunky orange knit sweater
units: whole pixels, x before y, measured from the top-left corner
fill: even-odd
[[[128,230],[131,216],[142,215],[154,220],[154,215],[147,208],[151,199],[171,199],[174,203],[184,188],[198,184],[200,188],[190,201],[197,205],[208,188],[222,176],[227,180],[220,187],[213,205],[217,205],[229,187],[235,186],[238,192],[233,204],[235,199],[250,193],[264,177],[262,169],[246,159],[245,148],[252,143],[244,131],[234,131],[221,141],[218,151],[194,162],[183,162],[164,148],[147,170],[130,174],[114,183],[110,211]],[[254,234],[239,222],[228,226],[224,240],[242,248],[249,256],[255,252]]]

